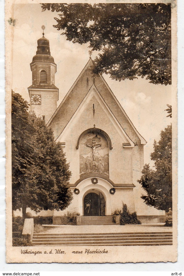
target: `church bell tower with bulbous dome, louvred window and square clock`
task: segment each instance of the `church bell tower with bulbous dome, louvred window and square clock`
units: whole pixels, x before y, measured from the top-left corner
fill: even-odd
[[[44,31],[45,26],[42,26]],[[59,89],[54,85],[57,66],[50,55],[49,40],[44,37],[38,39],[36,55],[30,63],[32,71],[32,85],[28,87],[30,95],[30,110],[40,116],[46,123],[57,109]]]

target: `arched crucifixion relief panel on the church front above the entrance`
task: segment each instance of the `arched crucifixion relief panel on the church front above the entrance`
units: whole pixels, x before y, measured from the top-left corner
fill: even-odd
[[[100,172],[109,176],[109,143],[98,129],[83,132],[79,141],[80,177],[84,173]]]

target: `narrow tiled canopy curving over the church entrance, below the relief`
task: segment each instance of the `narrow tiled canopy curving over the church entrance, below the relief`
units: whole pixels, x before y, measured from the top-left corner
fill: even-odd
[[[109,177],[101,172],[86,172],[81,175],[81,177],[74,183],[70,184],[70,187],[76,187],[82,180],[92,177],[99,177],[102,179],[105,179],[108,181],[113,187],[135,187],[134,184],[114,184],[112,180],[109,179]]]

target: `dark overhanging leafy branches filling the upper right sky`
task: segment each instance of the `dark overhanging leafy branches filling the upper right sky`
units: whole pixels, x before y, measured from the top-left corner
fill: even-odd
[[[89,43],[101,51],[94,73],[112,79],[146,77],[150,83],[171,84],[170,4],[41,4],[59,12],[57,30],[73,43]]]

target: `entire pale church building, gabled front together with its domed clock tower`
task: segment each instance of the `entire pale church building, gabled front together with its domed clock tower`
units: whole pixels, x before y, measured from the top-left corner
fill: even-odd
[[[142,222],[159,222],[164,213],[145,205],[140,179],[146,140],[130,121],[101,74],[94,75],[90,58],[57,107],[57,66],[49,40],[38,39],[30,64],[30,109],[46,121],[63,145],[72,176],[73,200],[64,211],[42,211],[53,223],[67,211],[81,216],[109,216],[126,204]],[[58,223],[59,224],[59,223]]]

